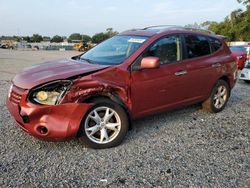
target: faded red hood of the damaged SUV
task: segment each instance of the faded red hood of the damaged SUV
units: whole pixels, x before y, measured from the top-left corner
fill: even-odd
[[[20,88],[31,89],[49,81],[88,74],[107,67],[109,65],[89,64],[72,59],[50,61],[24,69],[13,78],[12,82]]]

